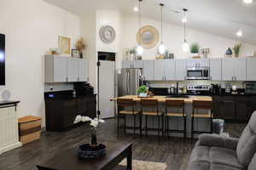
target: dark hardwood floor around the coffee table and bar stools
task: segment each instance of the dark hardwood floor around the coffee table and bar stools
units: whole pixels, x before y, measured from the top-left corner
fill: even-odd
[[[226,124],[225,131],[232,137],[239,137],[245,124]],[[170,138],[160,139],[148,136],[133,139],[132,135],[123,134],[117,138],[116,122],[110,119],[101,125],[98,131],[101,141],[131,141],[133,143],[133,159],[143,161],[166,162],[169,170],[185,170],[194,144],[190,140]],[[75,148],[79,144],[90,142],[90,127],[85,124],[67,132],[42,133],[41,140],[26,144],[0,155],[0,170],[34,170],[40,161],[45,161],[56,153]]]

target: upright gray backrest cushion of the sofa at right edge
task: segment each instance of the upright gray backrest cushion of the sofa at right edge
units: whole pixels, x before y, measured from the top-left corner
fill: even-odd
[[[236,154],[238,161],[248,166],[256,152],[256,111],[251,116],[247,127],[241,134],[241,138],[237,144]]]

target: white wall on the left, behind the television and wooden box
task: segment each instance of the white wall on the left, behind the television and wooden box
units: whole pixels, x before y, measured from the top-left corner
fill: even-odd
[[[44,120],[44,59],[58,47],[58,35],[80,36],[78,16],[42,0],[1,0],[0,32],[6,34],[6,86],[20,100],[18,116]],[[44,124],[44,123],[43,123]]]

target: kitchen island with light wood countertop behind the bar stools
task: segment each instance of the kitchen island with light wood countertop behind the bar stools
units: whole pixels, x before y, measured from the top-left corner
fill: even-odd
[[[137,111],[141,111],[140,106],[140,100],[142,98],[139,98],[137,95],[127,95],[119,97],[118,99],[133,99],[135,102],[137,102]],[[191,115],[192,115],[192,104],[194,100],[202,100],[202,101],[212,101],[212,97],[210,96],[189,96],[187,98],[183,97],[166,97],[166,96],[152,96],[149,98],[143,98],[143,99],[157,99],[159,102],[159,111],[165,112],[165,102],[166,99],[183,99],[185,103],[184,112],[187,116],[187,136],[189,137],[190,129],[191,129]],[[111,99],[112,101],[116,101],[117,98]],[[130,108],[125,108],[125,110],[129,110]],[[176,109],[177,112],[177,109]],[[198,113],[206,113],[207,111],[199,111]],[[213,113],[214,116],[214,113]],[[138,119],[137,119],[138,120]],[[144,123],[145,120],[143,120]],[[126,116],[126,126],[132,127],[133,126],[133,118],[132,116]],[[157,118],[154,116],[148,117],[148,127],[156,128],[157,127]],[[211,127],[211,121],[209,118],[199,118],[195,119],[195,131],[204,131],[204,132],[210,132]],[[139,126],[139,122],[137,122],[137,127]],[[169,119],[169,128],[171,129],[178,129],[183,130],[183,117],[170,117]],[[132,131],[127,131],[128,133]],[[137,131],[139,133],[139,131]],[[156,132],[148,132],[148,134],[157,134]],[[170,133],[170,136],[177,136],[182,137],[182,133]]]

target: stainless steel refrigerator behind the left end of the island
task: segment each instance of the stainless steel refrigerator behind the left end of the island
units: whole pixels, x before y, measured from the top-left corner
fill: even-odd
[[[141,69],[120,69],[117,71],[117,96],[137,95],[142,85]]]

